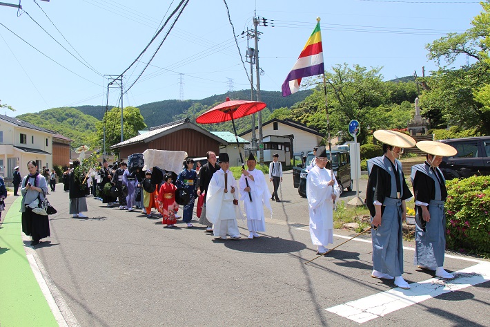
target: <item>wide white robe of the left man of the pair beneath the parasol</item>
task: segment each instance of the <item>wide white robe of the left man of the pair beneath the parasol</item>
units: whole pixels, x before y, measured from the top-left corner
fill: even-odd
[[[208,191],[206,192],[206,218],[213,223],[215,236],[226,238],[226,234],[231,237],[239,236],[237,218],[244,219],[238,205],[233,205],[233,200],[237,198],[237,181],[231,171],[227,172],[228,192],[224,193],[224,171],[219,169],[211,178]],[[231,193],[231,187],[235,187],[235,193]]]

